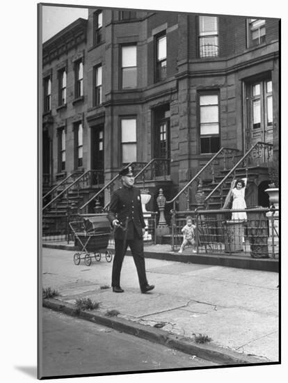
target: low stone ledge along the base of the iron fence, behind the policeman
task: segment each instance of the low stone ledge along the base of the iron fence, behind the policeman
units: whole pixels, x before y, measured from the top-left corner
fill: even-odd
[[[42,244],[42,247],[47,247],[48,249],[77,251],[77,248],[74,247],[74,245],[45,243]],[[127,250],[127,256],[131,256],[130,250]],[[271,258],[239,258],[237,256],[220,256],[214,254],[209,254],[209,256],[205,254],[193,254],[193,256],[190,256],[177,253],[157,253],[154,251],[146,251],[145,258],[171,260],[182,263],[195,263],[199,265],[236,267],[237,269],[250,269],[263,272],[279,272],[279,260]]]

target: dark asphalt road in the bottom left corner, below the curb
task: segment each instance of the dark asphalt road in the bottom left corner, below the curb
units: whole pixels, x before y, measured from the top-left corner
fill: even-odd
[[[47,308],[42,313],[43,377],[216,366]]]

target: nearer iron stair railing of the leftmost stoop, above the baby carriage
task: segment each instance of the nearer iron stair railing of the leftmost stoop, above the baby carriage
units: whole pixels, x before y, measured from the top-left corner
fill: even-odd
[[[71,176],[71,175],[70,175]],[[85,173],[81,174],[76,180],[74,180],[72,183],[67,185],[67,180],[70,178],[68,176],[61,182],[62,186],[64,185],[63,190],[61,192],[58,191],[57,195],[49,201],[43,208],[42,211],[46,210],[49,206],[56,203],[56,201],[59,201],[60,198],[65,198],[67,201],[67,205],[69,204],[69,192],[77,192],[77,195],[79,196],[79,192],[81,189],[86,189],[89,187],[93,187],[95,185],[101,185],[101,182],[104,182],[104,174],[102,170],[88,170]],[[57,188],[54,188],[55,191]]]

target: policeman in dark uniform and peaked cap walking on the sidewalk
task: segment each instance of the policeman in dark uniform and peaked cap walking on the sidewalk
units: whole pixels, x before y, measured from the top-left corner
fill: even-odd
[[[154,286],[148,284],[145,272],[143,251],[145,222],[140,191],[133,187],[134,175],[132,166],[122,169],[119,175],[122,177],[122,187],[113,193],[108,214],[111,226],[115,228],[112,289],[113,292],[124,292],[120,288],[120,272],[129,245],[136,265],[141,292],[145,293],[152,290]]]

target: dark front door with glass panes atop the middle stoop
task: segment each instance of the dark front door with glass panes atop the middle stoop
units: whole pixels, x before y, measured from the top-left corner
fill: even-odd
[[[170,110],[169,106],[155,111],[154,158],[170,159]],[[170,162],[157,162],[156,175],[170,174]]]

